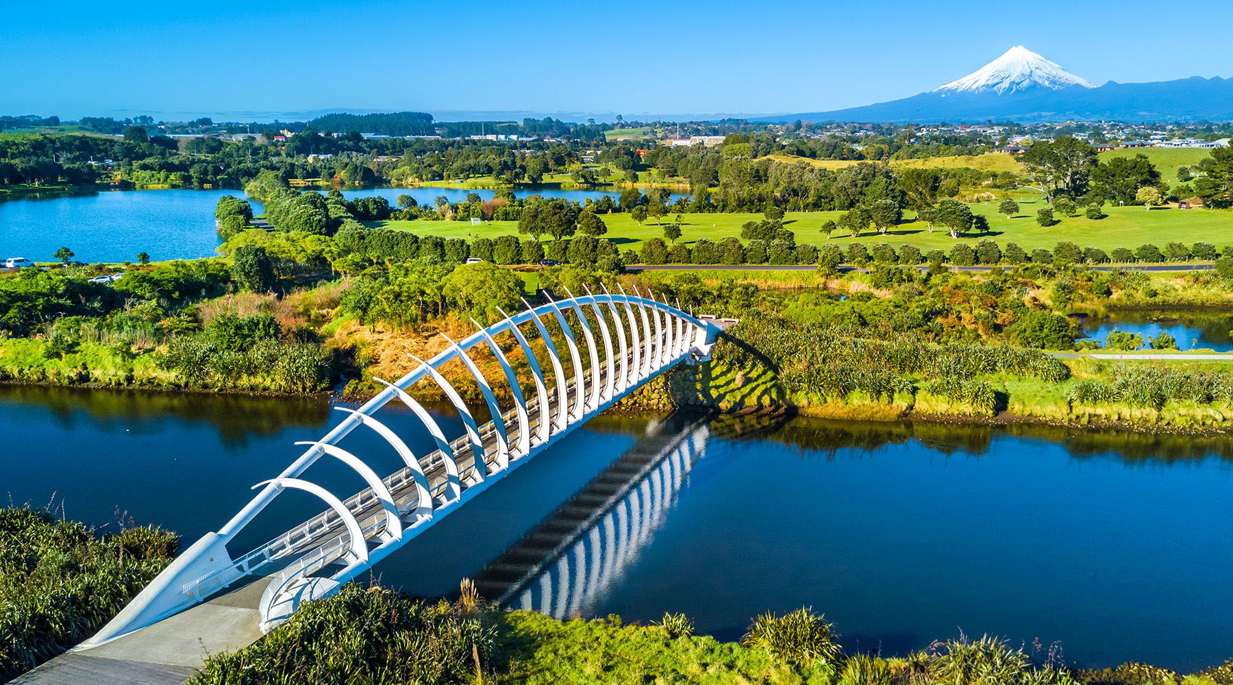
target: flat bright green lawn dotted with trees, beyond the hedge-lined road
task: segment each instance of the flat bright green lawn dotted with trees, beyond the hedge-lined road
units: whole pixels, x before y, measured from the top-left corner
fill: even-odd
[[[1018,243],[1025,250],[1036,248],[1052,249],[1058,241],[1070,240],[1081,248],[1095,246],[1110,251],[1115,248],[1134,249],[1144,243],[1154,243],[1163,248],[1165,243],[1176,240],[1192,244],[1196,241],[1212,243],[1217,248],[1233,243],[1233,211],[1217,209],[1173,209],[1157,208],[1147,211],[1143,207],[1106,207],[1107,216],[1104,219],[1092,221],[1083,217],[1067,217],[1060,223],[1042,228],[1036,223],[1036,211],[1044,206],[1044,201],[1020,200],[1020,213],[1007,219],[997,213],[996,202],[973,205],[974,212],[985,214],[989,218],[991,232],[983,237],[961,238],[970,244],[975,244],[981,238],[991,238],[1000,245],[1006,243]],[[842,212],[789,212],[785,217],[787,228],[797,234],[797,243],[814,243],[824,245],[827,238],[819,232],[819,228],[827,219],[837,219]],[[725,237],[740,237],[741,224],[747,221],[761,219],[762,214],[734,213],[734,214],[683,214],[682,216],[682,241],[692,245],[699,238],[720,240]],[[856,240],[873,245],[877,243],[890,243],[894,246],[912,244],[921,249],[949,250],[954,240],[944,230],[935,229],[928,233],[926,225],[911,221],[909,214],[905,222],[890,230],[888,235],[878,235],[866,232]],[[604,223],[608,225],[605,238],[616,243],[620,249],[631,248],[637,250],[641,243],[649,238],[663,235],[663,227],[656,225],[651,221],[637,224],[629,214],[604,214]],[[393,228],[398,230],[411,230],[420,235],[441,235],[446,238],[494,238],[504,234],[517,234],[517,222],[488,222],[483,225],[471,225],[469,222],[371,222],[369,225]],[[846,245],[853,238],[846,232],[836,230],[830,241]]]

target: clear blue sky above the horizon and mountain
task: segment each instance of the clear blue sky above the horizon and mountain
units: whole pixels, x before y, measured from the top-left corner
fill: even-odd
[[[1015,44],[1095,83],[1233,76],[1233,4],[14,2],[0,113],[800,112],[894,100]],[[1213,27],[1205,30],[1203,27]]]

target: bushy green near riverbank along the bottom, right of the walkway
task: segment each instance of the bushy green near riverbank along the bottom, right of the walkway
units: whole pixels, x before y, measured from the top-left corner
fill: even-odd
[[[460,599],[436,604],[349,584],[337,596],[301,609],[252,647],[211,655],[190,683],[234,683],[243,673],[260,674],[261,681],[524,685],[1233,683],[1233,662],[1185,676],[1134,663],[1083,670],[1069,668],[1044,646],[1016,648],[993,637],[961,636],[890,657],[845,651],[838,637],[836,626],[808,609],[756,616],[737,643],[694,634],[693,622],[683,614],[667,612],[650,626],[625,625],[618,615],[559,621],[488,607],[465,583]],[[339,653],[340,642],[356,648]]]

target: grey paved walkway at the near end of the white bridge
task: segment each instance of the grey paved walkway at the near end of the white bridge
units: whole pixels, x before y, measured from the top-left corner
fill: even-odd
[[[256,579],[205,604],[106,644],[68,652],[14,685],[166,685],[184,683],[207,654],[248,647],[261,637],[256,610],[266,580]]]

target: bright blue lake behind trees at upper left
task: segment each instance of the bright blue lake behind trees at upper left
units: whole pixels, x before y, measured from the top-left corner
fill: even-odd
[[[364,188],[344,191],[348,198],[381,196],[397,205],[399,195],[432,205],[439,196],[450,202],[466,200],[467,193],[491,200],[493,190],[439,187]],[[529,195],[563,197],[575,202],[616,197],[619,190],[519,188],[518,197]],[[48,198],[23,198],[0,202],[0,259],[23,256],[35,261],[53,261],[60,246],[76,254],[78,261],[136,261],[137,253],[150,259],[195,259],[216,256],[221,244],[215,230],[215,206],[224,195],[243,197],[239,190],[141,190],[101,191],[90,195]],[[673,196],[673,198],[679,196]],[[264,209],[253,202],[254,213]]]

